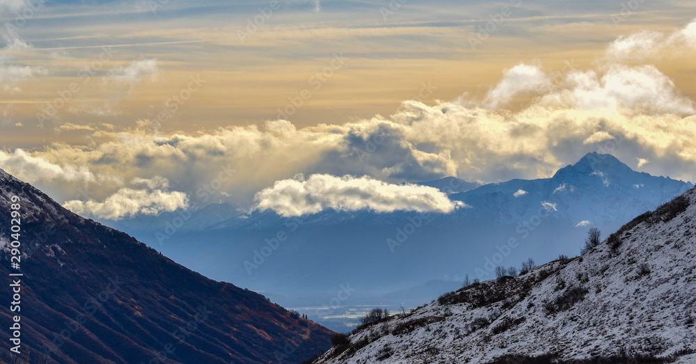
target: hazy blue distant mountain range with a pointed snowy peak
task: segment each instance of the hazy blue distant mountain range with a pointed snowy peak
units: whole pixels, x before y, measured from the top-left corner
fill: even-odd
[[[356,291],[342,304],[398,307],[408,303],[384,295],[430,280],[461,282],[466,274],[485,280],[496,265],[528,258],[576,255],[588,228],[616,230],[690,187],[590,153],[552,177],[449,193],[468,205],[451,214],[326,210],[285,218],[254,211],[198,230],[184,223],[171,234],[126,231],[205,276],[274,294],[284,306],[328,306],[349,283]],[[414,301],[436,297],[420,292]]]

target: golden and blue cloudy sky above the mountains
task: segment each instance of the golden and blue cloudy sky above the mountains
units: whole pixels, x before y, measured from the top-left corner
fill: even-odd
[[[450,212],[409,182],[549,177],[587,152],[696,181],[695,18],[654,0],[0,0],[0,168],[103,219]]]

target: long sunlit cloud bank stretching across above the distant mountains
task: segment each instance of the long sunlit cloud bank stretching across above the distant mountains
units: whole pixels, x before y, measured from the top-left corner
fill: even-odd
[[[135,80],[147,72],[120,74]],[[51,184],[64,200],[74,196],[66,173],[72,168],[80,180],[98,184],[93,198],[99,201],[124,188],[124,181],[159,176],[200,205],[225,200],[244,207],[263,187],[297,173],[367,175],[395,185],[445,176],[499,182],[549,177],[597,151],[622,161],[640,155],[651,161],[642,165],[648,173],[696,179],[693,102],[654,65],[612,62],[551,77],[540,66],[521,64],[504,72],[488,95],[432,104],[409,100],[389,116],[310,127],[268,120],[184,133],[161,132],[152,120],[128,127],[90,124],[94,130],[82,132],[99,143],[1,152],[0,166]]]

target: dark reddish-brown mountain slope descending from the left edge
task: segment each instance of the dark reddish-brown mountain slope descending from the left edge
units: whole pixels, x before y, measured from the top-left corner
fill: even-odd
[[[12,235],[17,215],[19,236]],[[12,251],[17,237],[19,252]],[[0,260],[3,277],[23,274],[10,277],[15,296],[1,290],[0,320],[10,327],[21,315],[19,344],[31,361],[297,363],[329,347],[333,334],[72,214],[2,170]],[[0,340],[14,333],[1,330]]]

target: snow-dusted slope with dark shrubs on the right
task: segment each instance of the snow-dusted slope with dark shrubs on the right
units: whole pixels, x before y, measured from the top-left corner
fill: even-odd
[[[324,363],[696,363],[696,189],[577,258],[335,340]]]

